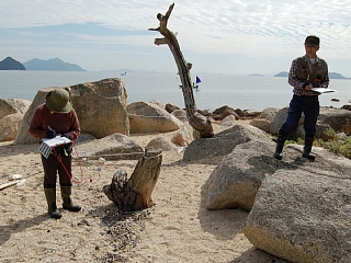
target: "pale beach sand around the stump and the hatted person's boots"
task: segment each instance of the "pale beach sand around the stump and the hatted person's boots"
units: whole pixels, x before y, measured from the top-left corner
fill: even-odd
[[[215,125],[215,130],[220,127]],[[170,138],[172,133],[161,134]],[[160,134],[131,135],[145,147]],[[184,163],[183,152],[163,151],[156,205],[120,215],[102,192],[116,169],[132,174],[137,160],[73,162],[72,199],[79,213],[47,215],[37,145],[0,142],[0,184],[11,174],[23,185],[0,191],[0,262],[285,262],[256,249],[242,233],[248,213],[207,210],[201,187],[213,164]],[[95,171],[100,167],[101,171]]]

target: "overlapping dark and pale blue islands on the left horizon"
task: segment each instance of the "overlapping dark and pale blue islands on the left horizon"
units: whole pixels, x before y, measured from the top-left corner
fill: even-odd
[[[87,71],[76,64],[64,62],[59,58],[48,60],[31,59],[24,64],[7,57],[0,61],[0,70],[57,70],[57,71]]]

